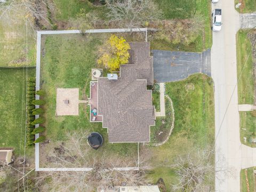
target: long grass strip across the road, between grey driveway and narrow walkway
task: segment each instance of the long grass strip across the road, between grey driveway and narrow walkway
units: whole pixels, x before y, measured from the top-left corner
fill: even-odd
[[[242,75],[238,82],[238,103],[254,103],[254,79],[252,62],[252,44],[247,37],[248,30],[239,30],[236,35],[237,41],[237,78]],[[244,66],[244,69],[243,69]],[[243,71],[242,71],[243,70]]]

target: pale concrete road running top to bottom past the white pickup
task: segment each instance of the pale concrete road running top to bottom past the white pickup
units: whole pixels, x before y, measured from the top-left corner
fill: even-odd
[[[215,86],[215,191],[240,191],[240,171],[256,165],[256,149],[241,144],[237,96],[236,33],[239,14],[233,0],[222,9],[222,30],[213,33],[211,69]]]

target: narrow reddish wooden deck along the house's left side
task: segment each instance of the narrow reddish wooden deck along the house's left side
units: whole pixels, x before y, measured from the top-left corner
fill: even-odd
[[[89,105],[90,105],[90,113],[93,109],[98,110],[98,82],[91,82],[90,83],[90,90],[91,90],[91,95],[89,100]],[[98,111],[96,112],[98,114]],[[90,121],[92,122],[102,122],[102,116],[98,115],[93,115],[91,113],[91,119]]]

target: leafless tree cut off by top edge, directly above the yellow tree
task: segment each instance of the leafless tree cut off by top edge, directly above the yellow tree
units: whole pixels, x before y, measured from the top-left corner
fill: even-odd
[[[106,5],[110,22],[118,22],[126,28],[147,26],[162,16],[162,11],[152,0],[106,0]]]

